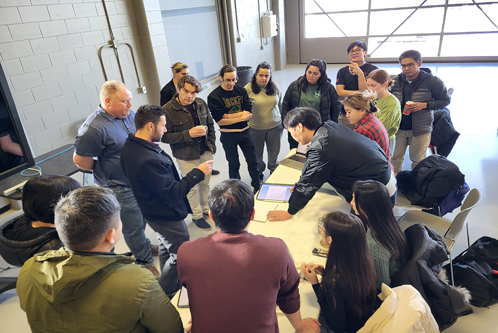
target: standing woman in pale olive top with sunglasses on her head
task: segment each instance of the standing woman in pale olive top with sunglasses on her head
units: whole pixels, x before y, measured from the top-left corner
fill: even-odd
[[[256,157],[258,158],[258,171],[260,179],[266,165],[263,160],[263,150],[268,152],[268,170],[270,174],[277,168],[277,158],[280,152],[280,141],[282,139],[282,93],[277,82],[271,77],[271,65],[266,61],[256,67],[253,79],[245,87],[251,104],[253,105],[253,116],[247,121],[251,130],[251,136],[256,146]]]

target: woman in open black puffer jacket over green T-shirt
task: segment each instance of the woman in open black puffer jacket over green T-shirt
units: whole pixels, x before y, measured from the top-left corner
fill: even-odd
[[[327,64],[320,59],[311,60],[306,66],[303,76],[292,82],[283,98],[282,120],[288,111],[298,107],[311,107],[321,115],[321,121],[337,122],[341,104],[338,101],[336,88],[327,76]],[[288,135],[289,146],[297,148],[298,142]]]

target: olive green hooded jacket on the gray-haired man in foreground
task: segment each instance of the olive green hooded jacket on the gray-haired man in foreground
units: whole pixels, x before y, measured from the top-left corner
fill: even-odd
[[[17,281],[33,332],[183,332],[153,274],[123,255],[63,247],[26,261]]]

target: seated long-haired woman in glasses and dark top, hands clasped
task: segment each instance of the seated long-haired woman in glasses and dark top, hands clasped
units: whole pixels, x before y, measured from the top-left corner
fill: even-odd
[[[301,272],[311,282],[320,304],[320,319],[334,333],[356,332],[379,308],[375,270],[365,228],[354,215],[330,212],[322,219],[322,240],[330,245],[325,267],[303,264]],[[317,274],[322,275],[318,283]],[[322,332],[327,332],[324,323]]]

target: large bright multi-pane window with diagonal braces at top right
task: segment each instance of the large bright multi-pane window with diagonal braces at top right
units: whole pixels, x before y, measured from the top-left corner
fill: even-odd
[[[368,39],[372,58],[498,56],[498,2],[472,0],[304,1],[304,38]]]

